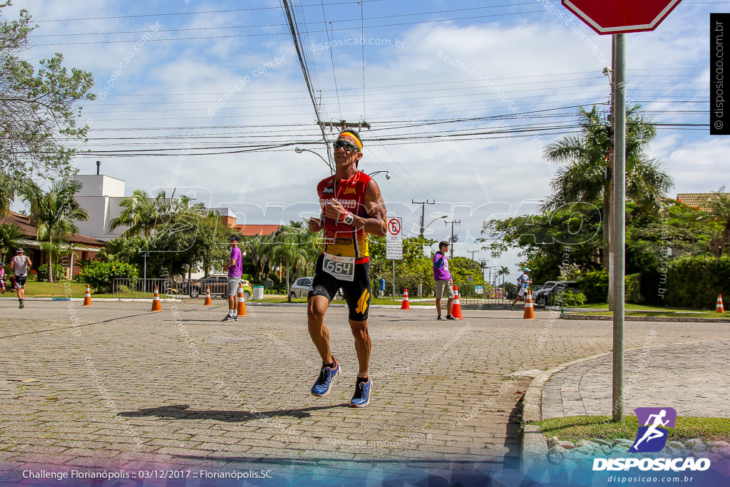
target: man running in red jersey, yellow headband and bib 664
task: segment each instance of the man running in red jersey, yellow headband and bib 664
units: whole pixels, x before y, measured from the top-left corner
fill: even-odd
[[[312,394],[319,397],[329,394],[341,371],[329,347],[324,314],[337,290],[342,288],[359,365],[351,407],[366,407],[372,393],[372,380],[368,376],[372,344],[367,330],[371,298],[367,234],[382,237],[387,231],[380,188],[375,180],[358,171],[362,147],[356,131],[339,134],[334,142],[337,172],[317,185],[322,215],[319,219],[310,218],[311,231],[324,231],[322,255],[317,260],[312,290],[307,296],[307,326],[323,363]]]

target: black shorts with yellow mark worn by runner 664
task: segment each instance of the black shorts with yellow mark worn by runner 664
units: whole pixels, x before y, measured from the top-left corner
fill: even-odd
[[[353,282],[339,280],[322,270],[324,256],[320,255],[315,265],[315,278],[312,280],[312,290],[308,297],[325,296],[330,302],[342,288],[347,308],[350,310],[347,318],[352,321],[365,321],[370,310],[370,263],[355,264],[355,279]]]

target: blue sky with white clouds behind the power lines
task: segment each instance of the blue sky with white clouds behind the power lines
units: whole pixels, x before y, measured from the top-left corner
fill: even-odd
[[[461,221],[456,255],[477,250],[485,219],[534,211],[555,169],[542,147],[575,129],[577,107],[607,108],[610,37],[559,1],[293,7],[320,118],[371,124],[361,131],[361,169],[391,173],[376,176],[388,215],[418,234],[412,199],[435,201],[426,223]],[[684,0],[656,31],[626,37],[627,96],[662,124],[651,153],[675,178],[670,196],[717,191],[729,179],[730,139],[706,126],[710,12],[729,7]],[[329,169],[293,150],[326,158],[279,1],[16,0],[3,13],[20,8],[39,25],[29,60],[61,52],[96,80],[82,117],[92,131],[81,148],[92,152],[77,158],[81,174],[101,161],[127,193],[175,186],[231,207],[239,223],[318,212],[315,185]],[[449,231],[435,221],[427,234]]]

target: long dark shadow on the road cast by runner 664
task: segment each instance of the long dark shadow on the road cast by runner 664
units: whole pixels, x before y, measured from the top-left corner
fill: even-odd
[[[144,418],[145,416],[157,416],[168,419],[216,419],[229,423],[241,423],[254,419],[277,418],[287,416],[290,418],[309,418],[310,411],[333,409],[335,407],[349,406],[349,403],[334,404],[330,406],[302,407],[301,409],[284,409],[276,411],[220,411],[220,410],[191,410],[188,404],[175,404],[173,406],[145,407],[139,411],[125,411],[119,413],[125,418]]]

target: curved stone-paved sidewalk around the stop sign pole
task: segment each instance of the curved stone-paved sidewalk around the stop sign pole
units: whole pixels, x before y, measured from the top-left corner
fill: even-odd
[[[721,325],[725,326],[725,325]],[[730,418],[730,340],[645,346],[624,353],[624,413],[673,407],[677,415]],[[569,362],[537,375],[525,394],[524,421],[612,414],[612,353]],[[526,425],[523,455],[547,453],[545,435]]]

